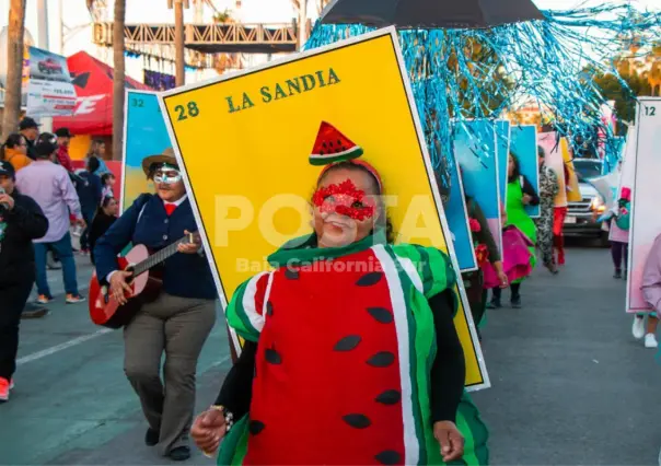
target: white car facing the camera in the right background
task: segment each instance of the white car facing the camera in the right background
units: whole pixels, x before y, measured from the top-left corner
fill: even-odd
[[[596,219],[605,211],[604,198],[590,183],[602,174],[603,162],[599,159],[575,159],[573,166],[579,182],[581,200],[569,202],[563,232],[566,236],[591,237],[602,246],[608,245],[608,232]]]

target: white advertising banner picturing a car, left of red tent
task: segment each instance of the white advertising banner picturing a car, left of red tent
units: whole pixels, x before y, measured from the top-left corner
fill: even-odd
[[[67,59],[36,47],[30,47],[27,115],[34,118],[71,115],[76,106]]]

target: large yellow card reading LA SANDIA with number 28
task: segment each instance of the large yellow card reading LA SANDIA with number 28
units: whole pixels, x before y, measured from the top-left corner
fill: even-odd
[[[266,256],[311,232],[321,167],[309,155],[322,121],[361,145],[361,159],[381,174],[398,242],[436,246],[459,270],[394,28],[160,98],[223,304],[265,270]],[[459,291],[466,385],[484,388],[487,371]]]

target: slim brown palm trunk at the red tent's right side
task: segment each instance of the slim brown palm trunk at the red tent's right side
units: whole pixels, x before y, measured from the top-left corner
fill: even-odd
[[[113,24],[113,58],[115,74],[113,78],[113,160],[121,160],[124,147],[124,23],[126,0],[115,0],[115,24]]]

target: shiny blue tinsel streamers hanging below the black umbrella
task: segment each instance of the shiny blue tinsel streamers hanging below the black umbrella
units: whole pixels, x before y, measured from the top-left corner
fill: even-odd
[[[601,129],[606,152],[616,150],[612,129],[601,120],[605,98],[593,78],[612,73],[628,90],[612,59],[631,42],[643,51],[661,44],[659,13],[613,4],[543,13],[545,21],[490,30],[399,31],[431,161],[443,175],[449,163],[442,154],[452,151],[456,125],[502,118],[531,101],[559,137],[573,143]],[[372,30],[317,23],[305,48]]]

